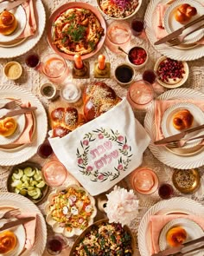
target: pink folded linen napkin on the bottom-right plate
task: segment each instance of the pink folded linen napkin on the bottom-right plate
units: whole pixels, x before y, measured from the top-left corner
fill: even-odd
[[[204,229],[204,219],[202,216],[196,215],[186,215],[186,214],[169,214],[169,215],[154,215],[150,216],[150,237],[151,237],[151,254],[158,253],[159,249],[159,235],[165,226],[170,220],[175,220],[177,218],[186,218],[193,220],[202,229]]]

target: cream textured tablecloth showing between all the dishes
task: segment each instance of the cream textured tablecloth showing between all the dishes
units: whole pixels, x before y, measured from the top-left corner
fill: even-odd
[[[137,14],[135,15],[135,17],[144,18],[145,12],[146,12],[148,6],[150,5],[151,2],[154,2],[155,0],[140,0],[140,1],[142,1],[142,4],[141,4],[140,9],[137,11]],[[51,14],[54,12],[54,10],[59,8],[62,4],[65,4],[68,2],[71,2],[71,1],[68,1],[68,0],[67,1],[64,1],[64,0],[53,0],[53,1],[41,0],[41,3],[43,4],[43,7],[44,7],[44,10],[46,13],[46,25],[41,34],[41,37],[39,38],[39,41],[37,43],[35,43],[35,45],[31,49],[29,49],[29,50],[25,49],[22,54],[18,55],[16,53],[16,50],[17,50],[16,47],[15,46],[11,47],[10,48],[10,57],[8,58],[8,57],[4,56],[4,54],[3,54],[4,48],[0,46],[0,91],[1,91],[1,87],[5,86],[5,85],[7,87],[16,88],[16,89],[19,88],[19,89],[24,89],[24,90],[28,91],[29,93],[31,93],[32,95],[35,95],[35,97],[37,97],[40,100],[40,102],[42,103],[43,107],[45,108],[45,110],[47,112],[47,115],[48,115],[48,109],[49,109],[50,104],[57,102],[59,100],[59,98],[52,101],[52,100],[48,100],[47,98],[45,98],[44,96],[41,95],[41,91],[40,91],[41,85],[45,82],[49,82],[48,78],[45,75],[43,75],[38,69],[29,68],[26,65],[25,57],[27,56],[28,53],[35,53],[38,56],[40,56],[41,60],[43,60],[44,56],[48,55],[49,53],[54,52],[54,49],[52,49],[48,43],[48,30],[47,29],[48,29],[49,16],[51,16]],[[99,8],[96,0],[86,0],[86,1],[81,0],[81,1],[75,1],[75,2],[85,2],[85,3],[91,4],[92,6],[94,6],[97,9]],[[105,22],[107,24],[111,23],[112,18],[107,17],[107,16],[104,16],[104,18],[105,18]],[[133,17],[131,17],[130,19],[127,19],[126,21],[128,23],[131,23],[132,18]],[[148,24],[146,24],[146,25],[148,25]],[[147,28],[146,28],[146,30],[147,30]],[[150,30],[150,28],[148,28],[148,30]],[[142,69],[135,70],[134,80],[140,80],[142,78],[142,74],[145,69],[154,69],[157,59],[159,57],[161,57],[162,54],[161,54],[161,51],[156,50],[155,46],[152,45],[152,43],[150,43],[147,33],[144,34],[143,36],[133,36],[132,35],[131,36],[131,45],[132,46],[133,45],[141,46],[144,49],[146,49],[149,54],[149,60],[146,63],[145,67],[143,67]],[[13,51],[13,56],[12,56],[12,51]],[[93,72],[94,63],[98,61],[99,55],[104,55],[106,62],[111,63],[110,78],[95,78],[94,77],[94,72]],[[183,50],[183,55],[188,56],[188,49]],[[3,67],[5,66],[5,64],[7,62],[10,62],[10,61],[19,62],[22,65],[22,75],[19,79],[15,80],[15,81],[9,80],[3,74]],[[128,92],[128,86],[124,87],[124,86],[119,85],[114,77],[114,70],[116,69],[118,64],[126,62],[126,55],[123,52],[121,52],[120,54],[115,54],[110,49],[108,49],[105,44],[103,44],[101,49],[99,49],[99,51],[95,55],[91,56],[86,61],[88,61],[89,65],[90,65],[90,77],[84,78],[84,79],[73,78],[73,81],[75,83],[86,84],[86,83],[93,82],[93,81],[105,82],[110,87],[112,87],[112,89],[115,90],[116,94],[119,97],[121,97],[121,98],[126,97],[127,92]],[[67,60],[67,66],[71,70],[73,67],[73,61]],[[188,61],[188,67],[189,67],[188,80],[187,80],[187,82],[185,82],[182,85],[181,88],[194,89],[194,91],[204,93],[204,57],[201,56],[200,58],[195,58],[194,60]],[[70,74],[70,78],[71,78],[71,74]],[[58,90],[61,89],[61,84],[55,84],[55,86]],[[155,97],[157,97],[167,91],[170,91],[171,89],[163,88],[161,85],[156,84],[154,86],[154,90],[155,90]],[[134,112],[136,119],[144,126],[145,115],[148,114],[149,109],[140,110],[140,109],[133,108],[132,110]],[[43,125],[44,124],[42,123],[41,126],[43,126]],[[48,122],[48,131],[50,129],[51,129],[50,123]],[[48,133],[47,133],[46,137],[48,137]],[[0,154],[1,154],[1,149],[0,149]],[[8,159],[10,159],[9,152],[7,154],[7,157],[8,157]],[[28,161],[36,162],[36,163],[40,164],[41,166],[43,166],[44,163],[48,160],[42,159],[38,154],[34,154],[31,158],[28,159]],[[150,167],[151,169],[153,169],[159,178],[159,182],[161,182],[161,183],[168,182],[171,185],[173,184],[172,175],[175,172],[176,168],[171,167],[171,166],[163,163],[162,161],[159,161],[156,158],[156,156],[154,154],[152,154],[150,148],[146,148],[145,151],[143,152],[143,161],[142,161],[141,166]],[[8,166],[8,165],[0,166],[0,193],[1,194],[8,192],[7,181],[8,181],[8,177],[10,175],[10,170],[12,169],[12,167],[13,167],[12,165],[11,166]],[[186,197],[186,198],[189,198],[192,200],[196,200],[196,201],[200,202],[201,204],[203,204],[203,206],[204,206],[204,197],[203,197],[204,168],[203,168],[203,166],[199,166],[196,169],[198,170],[200,177],[201,177],[201,186],[194,193],[191,193],[191,194],[182,194],[174,187],[174,190],[175,190],[174,196],[177,196],[177,197],[182,196],[182,197]],[[70,182],[78,183],[78,181],[76,181],[74,178]],[[124,178],[124,180],[122,180],[118,183],[118,186],[124,187],[126,189],[132,189],[130,176],[126,176]],[[48,194],[52,190],[54,190],[54,187],[50,188],[50,191],[48,192]],[[130,228],[135,237],[135,249],[136,249],[135,255],[141,255],[139,252],[139,249],[138,249],[138,241],[137,241],[138,226],[140,224],[140,221],[143,218],[143,214],[146,213],[150,209],[150,207],[154,206],[157,202],[161,201],[162,199],[158,195],[158,190],[156,190],[155,193],[149,194],[149,195],[138,194],[136,191],[135,191],[135,194],[137,194],[137,198],[140,202],[139,203],[140,210],[139,210],[139,213],[137,214],[136,218],[131,221]],[[99,200],[101,200],[101,198],[104,198],[104,196],[105,196],[105,193],[95,196],[96,202],[99,202]],[[46,212],[45,212],[46,203],[47,203],[47,197],[45,197],[45,199],[43,199],[40,203],[38,203],[36,205],[40,209],[40,211],[44,217],[46,217]],[[0,205],[1,205],[1,201],[0,201]],[[100,219],[104,219],[104,218],[106,218],[106,214],[104,212],[100,211],[98,208],[98,213],[97,213],[95,220],[100,220]],[[52,230],[52,227],[49,226],[48,224],[47,224],[47,230],[48,230],[48,235],[54,233]],[[76,237],[67,239],[68,246],[66,249],[64,249],[61,252],[60,255],[69,255],[70,249],[73,246],[73,242],[75,239],[76,239]],[[46,251],[46,249],[42,255],[43,256],[49,255],[48,252]],[[38,256],[41,256],[41,255],[38,255]]]

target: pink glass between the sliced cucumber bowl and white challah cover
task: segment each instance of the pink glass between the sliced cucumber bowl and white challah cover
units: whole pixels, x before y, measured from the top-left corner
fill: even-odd
[[[41,172],[44,181],[50,187],[61,186],[67,178],[67,169],[60,161],[48,161]]]

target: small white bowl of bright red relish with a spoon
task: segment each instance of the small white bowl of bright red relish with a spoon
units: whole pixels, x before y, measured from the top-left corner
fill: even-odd
[[[134,69],[142,69],[148,61],[148,53],[143,47],[134,46],[128,51],[127,61]]]

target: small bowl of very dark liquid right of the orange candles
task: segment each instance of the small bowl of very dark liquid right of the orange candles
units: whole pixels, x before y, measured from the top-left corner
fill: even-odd
[[[115,69],[114,77],[118,84],[121,86],[127,86],[133,82],[135,70],[129,64],[122,63]]]

